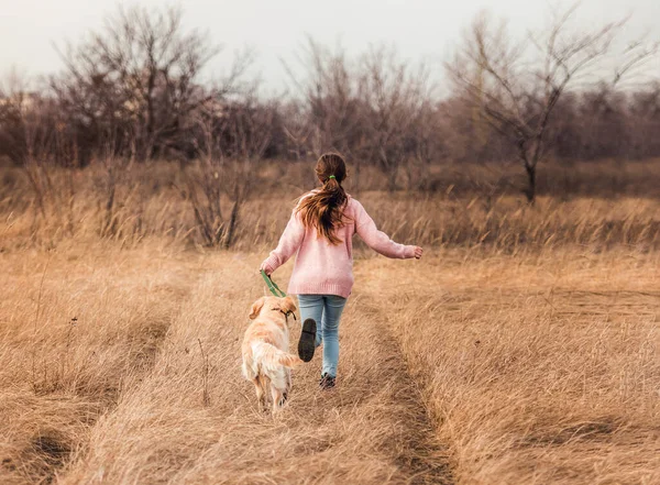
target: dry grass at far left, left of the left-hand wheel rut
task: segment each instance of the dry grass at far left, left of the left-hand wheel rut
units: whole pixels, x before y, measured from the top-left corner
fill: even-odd
[[[50,272],[41,261],[41,274],[28,282],[2,261],[8,278],[0,288],[13,308],[0,305],[0,483],[54,483],[123,388],[153,371],[196,272],[169,260],[143,264],[142,256],[55,255]],[[125,269],[136,262],[140,277]],[[40,318],[29,320],[41,280]]]

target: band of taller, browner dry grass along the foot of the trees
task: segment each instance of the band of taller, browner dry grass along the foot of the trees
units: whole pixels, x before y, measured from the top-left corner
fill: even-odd
[[[604,172],[592,177],[607,178],[608,166],[603,164]],[[377,181],[383,175],[363,169],[348,189],[386,232],[424,245],[487,245],[516,252],[566,243],[598,249],[626,244],[651,250],[660,246],[660,199],[652,189],[635,195],[632,181],[652,167],[653,162],[641,164],[637,172],[627,167],[627,176],[614,178],[623,191],[615,198],[603,197],[609,194],[606,187],[603,194],[588,197],[566,197],[569,190],[561,197],[541,196],[534,207],[510,191],[510,179],[502,178],[503,173],[495,176],[493,168],[484,167],[465,168],[461,176],[457,167],[439,167],[443,178],[438,190],[392,194],[373,190],[384,186]],[[582,165],[578,169],[585,170]],[[110,210],[108,174],[102,166],[43,168],[35,176],[43,178],[38,190],[21,172],[6,175],[0,186],[0,250],[48,249],[67,241],[92,243],[99,239],[124,247],[145,240],[177,247],[204,244],[193,208],[182,197],[185,181],[178,167],[154,164],[127,170],[113,179]],[[314,188],[311,175],[309,164],[300,163],[265,164],[255,170],[257,188],[241,207],[233,247],[254,250],[276,242],[294,200]],[[579,178],[580,184],[588,180],[585,174]],[[552,180],[560,183],[560,178]],[[387,203],[382,203],[384,199]],[[230,200],[221,202],[232,207]]]

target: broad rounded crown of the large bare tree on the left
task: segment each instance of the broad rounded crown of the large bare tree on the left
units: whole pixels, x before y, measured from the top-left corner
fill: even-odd
[[[52,87],[72,119],[97,137],[132,146],[140,159],[176,148],[190,113],[217,96],[196,81],[220,51],[208,35],[185,32],[182,19],[179,8],[120,7],[102,31],[69,45],[67,73]]]

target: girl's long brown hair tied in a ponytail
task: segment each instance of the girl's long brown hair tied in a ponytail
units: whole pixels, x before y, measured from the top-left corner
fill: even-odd
[[[349,198],[341,186],[346,178],[346,164],[338,153],[326,153],[317,162],[316,175],[323,186],[305,197],[297,211],[306,228],[316,228],[319,236],[339,244],[341,240],[332,231],[348,220],[343,210]]]

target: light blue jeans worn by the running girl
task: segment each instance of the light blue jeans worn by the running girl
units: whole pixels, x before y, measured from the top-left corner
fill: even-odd
[[[337,376],[339,362],[339,320],[346,299],[337,295],[298,295],[300,319],[317,322],[316,345],[323,343],[322,374]]]

